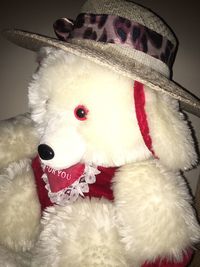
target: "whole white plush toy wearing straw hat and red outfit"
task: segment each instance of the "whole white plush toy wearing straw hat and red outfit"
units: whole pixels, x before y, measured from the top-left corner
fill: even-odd
[[[175,39],[132,2],[99,3],[55,23],[62,41],[4,32],[46,48],[31,116],[0,125],[0,266],[183,267],[199,241],[178,100],[196,115],[200,102],[169,79]]]

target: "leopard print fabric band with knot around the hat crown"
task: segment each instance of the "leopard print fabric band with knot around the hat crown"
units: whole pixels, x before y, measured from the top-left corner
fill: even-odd
[[[162,61],[169,69],[176,52],[166,37],[120,16],[82,13],[74,22],[66,18],[57,20],[54,31],[62,41],[82,39],[126,46]]]

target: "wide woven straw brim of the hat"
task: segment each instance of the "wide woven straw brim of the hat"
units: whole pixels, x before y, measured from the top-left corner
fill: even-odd
[[[83,42],[81,40],[77,40],[76,43],[64,42],[56,38],[16,29],[4,30],[2,34],[11,42],[35,52],[39,51],[41,47],[49,46],[92,60],[121,75],[136,79],[153,90],[168,94],[180,101],[182,109],[200,117],[200,100],[196,96],[176,82],[141,64],[137,60],[125,60],[124,56],[122,58],[120,55],[114,55],[112,49],[108,49],[112,44],[108,45],[98,42],[91,44],[91,42]]]

